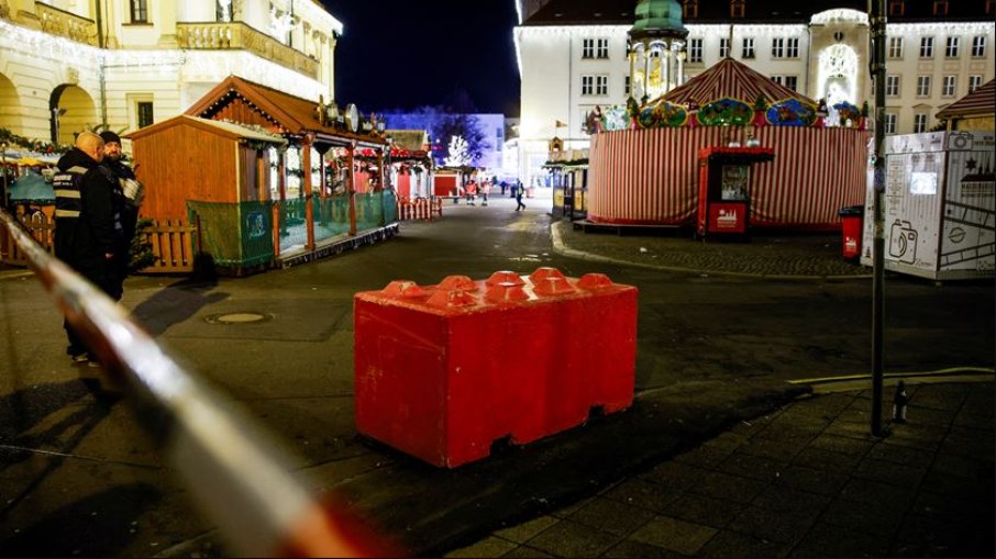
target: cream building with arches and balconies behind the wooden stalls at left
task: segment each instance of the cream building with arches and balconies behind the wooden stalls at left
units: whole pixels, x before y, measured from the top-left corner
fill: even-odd
[[[0,128],[132,131],[233,74],[331,100],[342,32],[317,0],[0,0]]]

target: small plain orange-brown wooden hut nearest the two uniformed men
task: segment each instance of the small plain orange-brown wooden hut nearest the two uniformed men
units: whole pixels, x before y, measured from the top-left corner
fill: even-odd
[[[187,115],[125,137],[132,141],[135,175],[145,186],[144,217],[173,226],[198,225],[197,251],[210,255],[218,266],[241,270],[273,261],[273,235],[265,225],[270,213],[266,205],[269,150],[265,147],[283,146],[286,139]],[[212,208],[213,214],[203,215]],[[209,217],[212,226],[206,226],[201,217]]]

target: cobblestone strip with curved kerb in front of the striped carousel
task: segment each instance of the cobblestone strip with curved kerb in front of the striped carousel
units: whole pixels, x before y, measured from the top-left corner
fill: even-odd
[[[761,277],[870,277],[871,268],[845,261],[840,234],[756,233],[748,242],[702,242],[668,232],[626,236],[551,226],[554,249],[567,256],[666,270]]]

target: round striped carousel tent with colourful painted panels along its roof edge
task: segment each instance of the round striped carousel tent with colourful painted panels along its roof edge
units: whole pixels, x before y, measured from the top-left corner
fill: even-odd
[[[848,102],[828,108],[726,58],[646,104],[589,114],[587,219],[691,226],[701,150],[745,147],[773,155],[751,169],[745,223],[839,231],[839,210],[864,202],[865,113]]]

